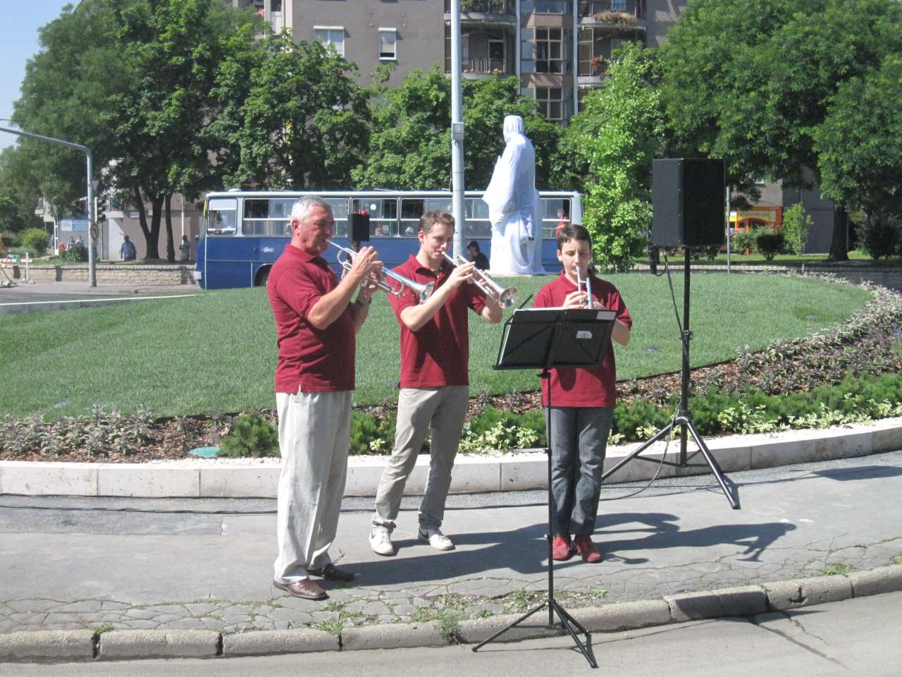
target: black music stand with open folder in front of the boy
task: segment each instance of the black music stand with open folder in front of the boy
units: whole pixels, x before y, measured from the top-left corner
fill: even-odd
[[[601,363],[611,341],[616,313],[614,311],[594,311],[588,309],[532,308],[514,311],[504,325],[502,345],[498,349],[498,363],[495,369],[535,369],[542,370],[541,376],[548,384],[548,412],[551,411],[551,372],[557,366],[597,366]],[[548,420],[548,419],[547,419]],[[550,423],[550,422],[549,422]],[[576,646],[589,664],[597,668],[592,654],[591,638],[586,629],[555,599],[554,559],[551,545],[554,539],[551,497],[551,425],[548,429],[548,598],[524,616],[504,627],[488,639],[473,647],[482,648],[496,637],[503,635],[511,627],[518,626],[537,611],[548,607],[548,627],[554,627],[555,612],[560,625],[573,637]],[[578,630],[585,637],[585,644],[576,636]]]

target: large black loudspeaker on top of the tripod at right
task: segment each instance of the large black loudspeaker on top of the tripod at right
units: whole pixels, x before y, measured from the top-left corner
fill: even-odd
[[[652,244],[723,245],[725,194],[723,160],[667,158],[652,162]]]

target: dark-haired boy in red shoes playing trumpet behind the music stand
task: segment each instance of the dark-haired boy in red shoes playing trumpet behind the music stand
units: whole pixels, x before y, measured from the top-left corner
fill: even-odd
[[[536,308],[585,308],[585,288],[579,278],[589,277],[594,308],[617,313],[612,338],[630,343],[630,311],[612,283],[590,274],[592,241],[582,226],[567,224],[557,236],[557,260],[564,264],[560,277],[536,294]],[[554,504],[552,557],[568,560],[579,552],[584,561],[602,560],[592,543],[598,496],[601,492],[604,450],[611,431],[616,392],[613,348],[594,368],[561,367],[551,370],[551,496]],[[548,407],[548,384],[542,381],[542,404]],[[548,411],[548,410],[546,410]],[[575,543],[570,534],[575,534]]]

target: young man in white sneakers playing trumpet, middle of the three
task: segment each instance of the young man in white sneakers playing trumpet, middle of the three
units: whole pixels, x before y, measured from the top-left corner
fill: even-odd
[[[406,287],[400,297],[389,296],[400,324],[400,394],[394,450],[376,489],[370,532],[370,547],[381,555],[395,553],[391,532],[400,499],[430,429],[429,477],[419,506],[418,536],[437,550],[454,549],[441,525],[469,396],[467,309],[492,323],[502,319],[501,306],[470,283],[474,263],[455,266],[446,259],[454,227],[450,214],[424,214],[417,234],[419,252],[394,269],[418,283],[435,283],[435,291],[422,304]]]

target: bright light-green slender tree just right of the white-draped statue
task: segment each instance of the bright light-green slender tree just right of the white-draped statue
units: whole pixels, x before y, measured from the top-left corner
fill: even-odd
[[[651,161],[664,134],[655,77],[653,52],[624,47],[606,86],[586,97],[566,132],[575,166],[586,168],[583,225],[594,262],[618,271],[629,269],[649,241]]]

